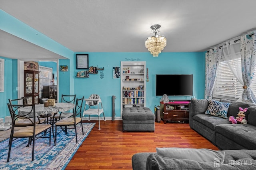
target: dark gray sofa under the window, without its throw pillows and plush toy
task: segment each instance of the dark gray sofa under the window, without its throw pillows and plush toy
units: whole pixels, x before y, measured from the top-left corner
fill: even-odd
[[[239,107],[248,108],[246,120],[248,124],[232,124],[228,119],[205,114],[208,99],[192,99],[189,104],[189,125],[199,134],[207,138],[220,150],[256,149],[256,105],[215,99],[216,101],[231,103],[227,117],[237,117]]]

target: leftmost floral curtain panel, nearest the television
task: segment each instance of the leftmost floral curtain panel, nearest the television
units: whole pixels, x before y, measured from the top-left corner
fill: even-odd
[[[205,54],[205,99],[212,99],[212,91],[221,55],[222,47],[214,47],[214,49],[210,49]]]

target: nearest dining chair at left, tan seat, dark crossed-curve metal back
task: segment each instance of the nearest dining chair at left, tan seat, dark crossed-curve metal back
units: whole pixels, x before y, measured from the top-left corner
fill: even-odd
[[[8,109],[12,118],[12,129],[11,129],[11,136],[10,136],[10,144],[9,144],[9,151],[7,162],[10,160],[10,153],[12,149],[12,142],[17,138],[28,138],[30,144],[32,143],[32,161],[34,161],[34,148],[35,148],[35,141],[37,138],[49,138],[49,145],[51,146],[51,125],[49,124],[36,124],[36,111],[35,111],[35,104],[32,105],[12,105],[7,103]],[[18,115],[18,111],[22,107],[31,107],[30,112],[26,115]],[[33,114],[33,117],[28,117],[28,115]],[[20,127],[18,124],[18,119],[26,120],[29,122],[30,126],[22,127],[19,130],[14,130],[16,127]],[[49,136],[46,136],[44,132],[49,130]]]

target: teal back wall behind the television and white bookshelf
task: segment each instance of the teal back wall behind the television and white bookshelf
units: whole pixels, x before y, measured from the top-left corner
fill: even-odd
[[[113,67],[121,65],[121,61],[146,61],[149,82],[146,82],[146,107],[154,111],[159,105],[161,97],[156,97],[156,74],[193,74],[194,96],[204,98],[204,52],[160,53],[159,57],[152,57],[150,53],[86,53],[89,54],[89,67],[104,67],[98,74],[90,74],[89,78],[74,78],[74,94],[88,98],[91,94],[100,95],[106,117],[112,116],[112,95],[116,96],[116,117],[120,117],[120,79],[112,78]],[[75,58],[74,58],[75,60]],[[75,62],[74,62],[75,63]],[[70,67],[76,67],[75,65]],[[71,77],[75,77],[77,70]],[[103,78],[102,78],[103,75]],[[166,83],[175,83],[168,80]],[[170,99],[186,99],[186,97],[169,96]]]

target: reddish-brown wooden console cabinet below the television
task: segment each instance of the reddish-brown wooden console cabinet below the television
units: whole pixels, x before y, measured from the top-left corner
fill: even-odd
[[[189,101],[160,102],[161,119],[166,121],[188,121]]]

